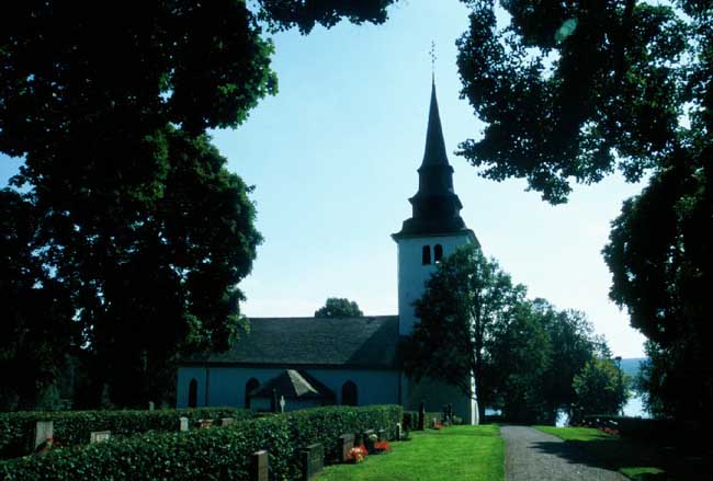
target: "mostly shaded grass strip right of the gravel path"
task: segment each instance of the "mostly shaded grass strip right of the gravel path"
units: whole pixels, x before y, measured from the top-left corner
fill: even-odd
[[[533,427],[576,444],[600,460],[603,467],[619,470],[636,481],[711,479],[709,468],[703,463],[689,462],[684,455],[655,440],[644,443],[612,436],[592,427]]]

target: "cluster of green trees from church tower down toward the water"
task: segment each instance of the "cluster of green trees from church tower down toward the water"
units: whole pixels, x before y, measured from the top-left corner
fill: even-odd
[[[607,344],[584,313],[524,295],[478,248],[448,256],[416,304],[420,322],[405,345],[406,371],[467,396],[475,373],[482,417],[486,405],[514,422],[553,423],[558,410],[570,412],[575,375],[595,355],[609,355]]]

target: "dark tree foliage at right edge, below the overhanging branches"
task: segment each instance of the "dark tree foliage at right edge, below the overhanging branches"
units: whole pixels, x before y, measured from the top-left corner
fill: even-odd
[[[710,163],[710,159],[708,160]],[[652,177],[612,225],[611,297],[647,337],[640,387],[657,416],[713,425],[711,173],[683,163]]]

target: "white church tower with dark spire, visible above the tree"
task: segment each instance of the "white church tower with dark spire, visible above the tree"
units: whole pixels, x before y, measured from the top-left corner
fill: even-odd
[[[398,328],[400,335],[414,330],[414,301],[423,295],[426,282],[441,260],[461,245],[477,243],[475,233],[461,218],[463,205],[453,192],[453,168],[431,84],[423,161],[418,169],[418,192],[408,199],[412,214],[401,230],[392,234],[398,244]]]

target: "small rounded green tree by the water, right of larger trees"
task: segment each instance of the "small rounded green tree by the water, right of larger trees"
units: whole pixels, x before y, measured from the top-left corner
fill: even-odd
[[[619,414],[629,399],[630,378],[612,359],[595,357],[574,379],[575,420],[588,414]]]

